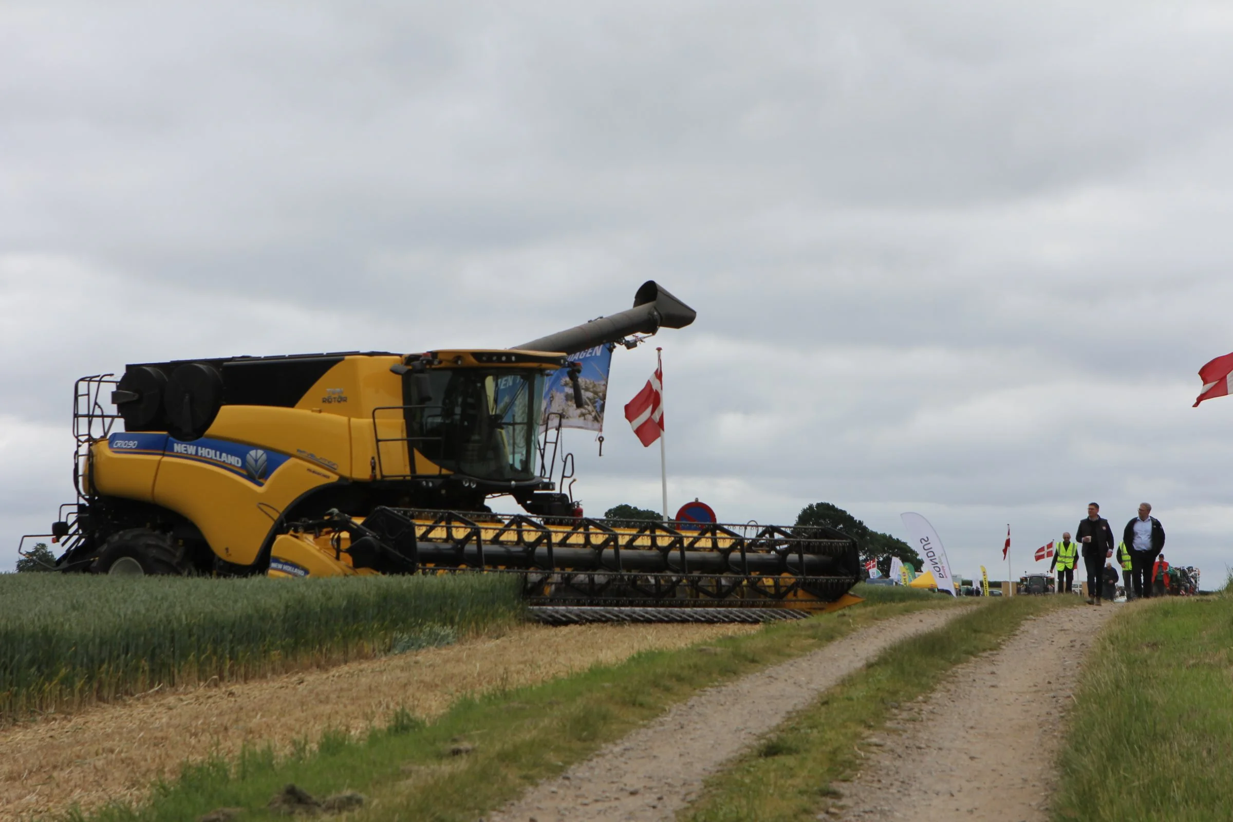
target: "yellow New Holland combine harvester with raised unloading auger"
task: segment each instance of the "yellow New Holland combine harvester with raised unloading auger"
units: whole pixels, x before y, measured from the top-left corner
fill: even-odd
[[[67,548],[57,568],[512,573],[550,621],[827,608],[858,578],[856,546],[837,531],[588,519],[550,478],[545,377],[566,368],[581,405],[570,355],[693,319],[647,282],[634,308],[513,349],[243,356],[84,377],[78,502],[48,535]],[[491,513],[494,497],[525,513]]]

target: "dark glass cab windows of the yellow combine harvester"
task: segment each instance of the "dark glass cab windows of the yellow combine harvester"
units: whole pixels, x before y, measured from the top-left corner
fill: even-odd
[[[443,468],[477,479],[534,479],[544,372],[433,368],[432,396],[406,385],[409,445]]]

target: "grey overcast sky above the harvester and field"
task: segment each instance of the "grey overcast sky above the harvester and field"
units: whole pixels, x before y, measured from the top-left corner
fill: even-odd
[[[1090,500],[1233,564],[1233,6],[0,4],[0,569],[72,499],[74,378],[665,332],[670,507],[831,502],[957,573]],[[600,514],[660,505],[619,414]]]

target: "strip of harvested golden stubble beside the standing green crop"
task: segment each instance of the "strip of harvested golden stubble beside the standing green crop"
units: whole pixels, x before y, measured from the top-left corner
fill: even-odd
[[[530,685],[616,664],[650,648],[682,648],[752,625],[523,626],[326,670],[157,693],[0,728],[0,820],[83,810],[145,796],[180,763],[249,742],[285,752],[326,728],[366,731],[399,706],[430,718],[466,694]]]

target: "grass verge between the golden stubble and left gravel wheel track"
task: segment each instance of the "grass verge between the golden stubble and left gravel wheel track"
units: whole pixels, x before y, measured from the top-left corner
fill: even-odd
[[[705,652],[645,652],[619,665],[464,699],[430,725],[401,711],[363,738],[326,733],[290,757],[253,749],[236,760],[189,765],[141,806],[69,818],[179,822],[221,807],[245,808],[244,820],[272,818],[266,802],[295,783],[317,797],[366,794],[372,801],[359,813],[366,821],[473,822],[702,688],[808,653],[880,619],[953,606],[936,594],[864,588],[856,592],[867,596],[864,604],[836,614],[767,625]],[[464,747],[470,751],[460,753]]]

